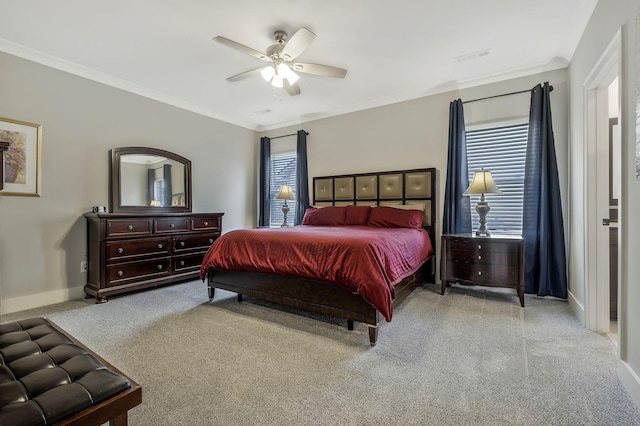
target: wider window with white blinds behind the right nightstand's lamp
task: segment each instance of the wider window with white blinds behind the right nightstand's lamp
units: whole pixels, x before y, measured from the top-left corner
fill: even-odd
[[[491,210],[487,229],[494,234],[522,233],[522,200],[524,195],[524,163],[527,154],[529,124],[515,124],[470,130],[467,137],[469,182],[475,171],[490,170],[502,191],[487,195]],[[478,228],[480,218],[475,211],[480,196],[471,196],[471,225]]]

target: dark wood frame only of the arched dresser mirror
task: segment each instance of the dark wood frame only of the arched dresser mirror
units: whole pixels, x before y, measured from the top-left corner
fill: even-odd
[[[191,212],[191,161],[173,152],[158,148],[123,147],[114,148],[111,153],[111,169],[109,176],[109,192],[111,194],[110,211],[112,213],[185,213]],[[151,206],[123,206],[120,193],[120,161],[123,155],[158,155],[168,160],[176,161],[184,166],[184,206],[151,207]]]

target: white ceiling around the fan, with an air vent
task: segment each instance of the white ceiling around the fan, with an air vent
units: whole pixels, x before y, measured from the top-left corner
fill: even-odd
[[[568,65],[597,0],[0,0],[0,51],[249,129],[266,130]],[[317,37],[289,96],[264,64],[273,32]],[[477,53],[488,51],[486,56]],[[475,55],[474,55],[475,54]]]

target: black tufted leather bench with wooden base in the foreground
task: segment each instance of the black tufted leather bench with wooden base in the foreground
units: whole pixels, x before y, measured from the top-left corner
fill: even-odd
[[[0,324],[0,426],[126,425],[142,389],[44,318]]]

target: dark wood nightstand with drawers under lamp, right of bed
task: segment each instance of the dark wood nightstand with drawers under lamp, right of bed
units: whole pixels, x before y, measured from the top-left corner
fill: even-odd
[[[442,289],[449,282],[514,288],[524,307],[524,240],[519,235],[442,236]]]

